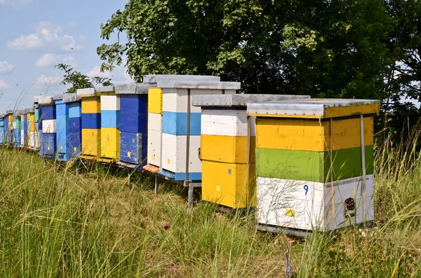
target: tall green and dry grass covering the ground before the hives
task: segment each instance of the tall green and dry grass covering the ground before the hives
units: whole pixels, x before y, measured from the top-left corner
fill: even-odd
[[[306,241],[255,232],[253,215],[212,204],[187,211],[183,188],[107,167],[76,175],[0,148],[0,274],[4,277],[421,276],[421,161],[415,144],[376,149],[378,229]],[[53,163],[53,164],[52,164]]]

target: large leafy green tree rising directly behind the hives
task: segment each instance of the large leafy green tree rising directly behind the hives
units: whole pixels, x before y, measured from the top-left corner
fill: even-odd
[[[392,28],[381,0],[130,0],[101,25],[102,70],[215,74],[245,92],[378,97]]]

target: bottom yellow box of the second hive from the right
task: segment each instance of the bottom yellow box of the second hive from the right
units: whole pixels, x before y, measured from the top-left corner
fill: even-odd
[[[227,207],[255,207],[255,165],[202,161],[202,200]]]

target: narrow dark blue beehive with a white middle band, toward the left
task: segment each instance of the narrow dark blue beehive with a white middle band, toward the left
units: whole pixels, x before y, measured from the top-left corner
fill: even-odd
[[[55,158],[57,120],[53,97],[40,97],[39,104],[39,155],[44,158]]]

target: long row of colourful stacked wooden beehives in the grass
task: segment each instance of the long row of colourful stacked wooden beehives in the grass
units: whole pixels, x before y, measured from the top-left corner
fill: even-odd
[[[151,172],[201,180],[203,200],[234,208],[257,200],[258,222],[269,225],[332,230],[352,216],[357,223],[373,218],[377,102],[232,95],[239,84],[201,78],[145,76],[145,84],[55,97],[55,107],[53,98],[36,99],[40,153],[135,167],[147,161]],[[74,113],[66,108],[72,104]],[[4,118],[3,127],[7,122],[18,129],[18,120]]]

